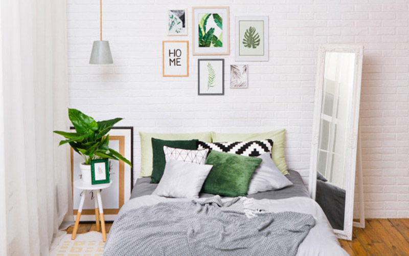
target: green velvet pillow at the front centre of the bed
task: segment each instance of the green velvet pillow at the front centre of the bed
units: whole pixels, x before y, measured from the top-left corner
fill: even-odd
[[[201,188],[203,193],[227,197],[246,196],[248,183],[262,159],[212,150],[206,164],[213,165]]]

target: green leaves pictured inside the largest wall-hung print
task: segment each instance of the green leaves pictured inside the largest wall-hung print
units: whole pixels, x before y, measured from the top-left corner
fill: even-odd
[[[210,28],[206,30],[207,23],[210,17],[213,17],[213,20],[217,27],[223,29],[223,19],[217,13],[208,13],[203,15],[199,23],[199,47],[223,47],[223,42],[219,39],[222,36],[220,33],[219,37],[214,35],[215,28]]]

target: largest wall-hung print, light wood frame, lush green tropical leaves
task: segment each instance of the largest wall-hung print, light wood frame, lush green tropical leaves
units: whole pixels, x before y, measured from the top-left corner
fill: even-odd
[[[229,7],[193,7],[193,55],[229,55]]]

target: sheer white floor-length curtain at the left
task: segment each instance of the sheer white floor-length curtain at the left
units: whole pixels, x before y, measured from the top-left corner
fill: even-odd
[[[65,0],[1,0],[0,255],[48,255],[69,212]]]

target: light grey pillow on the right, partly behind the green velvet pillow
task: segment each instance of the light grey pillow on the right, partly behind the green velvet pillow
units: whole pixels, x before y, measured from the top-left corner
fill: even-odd
[[[277,190],[292,185],[292,182],[274,164],[269,153],[258,156],[258,158],[263,159],[263,161],[256,168],[248,184],[248,195],[268,190]]]

